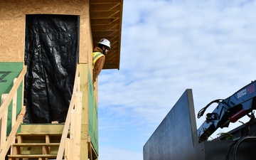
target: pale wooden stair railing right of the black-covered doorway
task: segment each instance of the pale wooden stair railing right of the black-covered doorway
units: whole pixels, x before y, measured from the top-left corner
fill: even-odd
[[[60,139],[57,160],[63,159],[64,150],[65,159],[80,160],[81,121],[82,92],[80,92],[80,67],[78,65],[75,73],[73,95]],[[68,132],[70,133],[70,138],[68,138]]]

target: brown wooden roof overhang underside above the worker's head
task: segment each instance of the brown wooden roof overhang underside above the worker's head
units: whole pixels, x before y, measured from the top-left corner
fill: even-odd
[[[111,42],[103,69],[119,70],[123,0],[90,0],[90,23],[93,45],[101,38]]]

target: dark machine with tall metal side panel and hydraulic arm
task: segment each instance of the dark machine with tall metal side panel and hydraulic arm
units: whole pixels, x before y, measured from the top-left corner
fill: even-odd
[[[206,114],[206,121],[201,127],[196,127],[196,114],[193,105],[192,90],[186,90],[174,107],[164,117],[159,127],[143,147],[144,160],[251,160],[256,159],[256,137],[248,134],[256,133],[255,110],[255,81],[225,100],[214,100],[198,112],[201,117],[213,103],[218,106],[213,112]],[[220,139],[209,141],[216,129],[228,127],[230,122],[236,122],[245,115],[250,121],[233,129],[235,139]],[[248,128],[251,132],[247,132]],[[241,135],[246,132],[247,134]]]

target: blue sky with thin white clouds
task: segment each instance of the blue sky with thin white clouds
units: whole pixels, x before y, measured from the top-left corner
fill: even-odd
[[[255,8],[243,0],[124,0],[120,70],[99,76],[99,160],[142,160],[186,89],[197,114],[255,80]]]

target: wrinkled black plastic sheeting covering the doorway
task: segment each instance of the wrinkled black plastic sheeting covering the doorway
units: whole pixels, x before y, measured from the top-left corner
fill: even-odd
[[[79,16],[26,15],[24,123],[65,122],[78,63]]]

